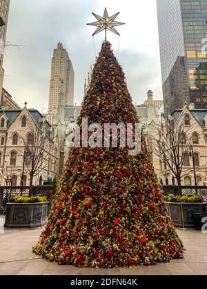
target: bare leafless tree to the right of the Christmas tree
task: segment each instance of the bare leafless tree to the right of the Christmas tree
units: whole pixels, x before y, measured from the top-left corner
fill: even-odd
[[[181,178],[186,174],[184,170],[190,156],[192,145],[192,127],[186,127],[184,121],[174,122],[170,118],[163,118],[157,127],[157,135],[152,136],[155,142],[153,151],[172,172],[177,180],[178,193],[181,195]]]

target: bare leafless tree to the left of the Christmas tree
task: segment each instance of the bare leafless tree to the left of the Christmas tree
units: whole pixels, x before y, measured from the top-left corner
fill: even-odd
[[[39,175],[43,169],[46,169],[50,164],[51,138],[50,126],[46,120],[34,124],[28,122],[30,133],[27,138],[21,137],[24,145],[24,162],[30,173],[30,193],[32,195],[32,183],[36,175]]]

